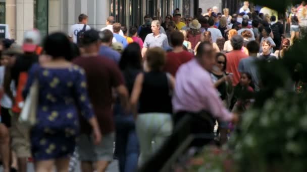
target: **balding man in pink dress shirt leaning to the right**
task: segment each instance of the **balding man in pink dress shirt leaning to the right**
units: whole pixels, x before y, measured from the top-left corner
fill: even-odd
[[[178,69],[172,100],[175,121],[178,114],[197,114],[201,111],[207,111],[222,121],[238,120],[237,115],[233,115],[223,106],[211,80],[210,71],[215,65],[215,60],[212,44],[203,42],[197,49],[196,57]]]

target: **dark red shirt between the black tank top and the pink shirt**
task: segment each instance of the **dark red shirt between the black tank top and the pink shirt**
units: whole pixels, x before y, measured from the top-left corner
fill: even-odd
[[[193,56],[194,55],[188,51],[182,51],[179,53],[168,52],[166,57],[166,63],[164,66],[164,71],[169,72],[173,76],[175,76],[181,64],[190,61],[193,58]]]

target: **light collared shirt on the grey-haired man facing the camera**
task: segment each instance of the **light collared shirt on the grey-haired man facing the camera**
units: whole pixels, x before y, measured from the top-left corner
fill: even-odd
[[[146,36],[144,40],[143,47],[152,48],[152,47],[161,47],[166,49],[169,47],[169,41],[165,34],[160,34],[158,36],[154,36],[154,33],[150,33]]]

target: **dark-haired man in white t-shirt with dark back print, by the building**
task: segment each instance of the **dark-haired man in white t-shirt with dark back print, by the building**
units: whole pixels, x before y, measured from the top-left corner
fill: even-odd
[[[84,28],[84,25],[86,25],[85,31],[90,30],[90,27],[87,25],[88,16],[86,16],[85,14],[80,14],[78,19],[79,19],[79,23],[72,25],[69,31],[69,38],[74,43],[77,43],[77,34]]]

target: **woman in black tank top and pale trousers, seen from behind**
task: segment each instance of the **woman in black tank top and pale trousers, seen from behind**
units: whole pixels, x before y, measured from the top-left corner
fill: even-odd
[[[171,93],[175,80],[162,71],[166,53],[157,47],[148,49],[145,56],[149,71],[136,77],[130,101],[137,118],[136,132],[141,151],[139,163],[146,161],[173,129]]]

